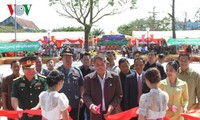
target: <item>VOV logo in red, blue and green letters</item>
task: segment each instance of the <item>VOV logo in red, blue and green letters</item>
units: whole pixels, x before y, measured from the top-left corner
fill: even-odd
[[[10,15],[13,15],[13,12],[15,12],[17,16],[22,16],[25,12],[26,15],[28,16],[31,10],[32,4],[22,4],[22,5],[7,4],[7,6],[10,11]]]

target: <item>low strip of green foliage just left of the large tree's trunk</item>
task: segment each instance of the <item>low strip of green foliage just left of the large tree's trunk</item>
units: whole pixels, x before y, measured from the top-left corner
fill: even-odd
[[[53,29],[52,32],[75,32],[75,31],[84,31],[83,27],[61,27],[58,29]]]

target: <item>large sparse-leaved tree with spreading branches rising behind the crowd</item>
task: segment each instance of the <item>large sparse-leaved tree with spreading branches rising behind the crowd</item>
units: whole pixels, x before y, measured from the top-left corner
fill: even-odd
[[[84,26],[84,47],[88,51],[92,26],[106,16],[120,14],[127,8],[133,9],[136,0],[49,0],[49,3],[50,6],[55,6],[59,15],[75,19]]]

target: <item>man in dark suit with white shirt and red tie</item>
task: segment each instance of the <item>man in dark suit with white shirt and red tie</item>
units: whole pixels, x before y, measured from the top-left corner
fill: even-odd
[[[141,94],[150,91],[146,85],[143,71],[145,61],[143,58],[138,57],[134,60],[135,71],[128,75],[125,82],[125,92],[124,92],[124,108],[125,110],[139,106],[139,99]],[[137,120],[137,118],[133,118]]]

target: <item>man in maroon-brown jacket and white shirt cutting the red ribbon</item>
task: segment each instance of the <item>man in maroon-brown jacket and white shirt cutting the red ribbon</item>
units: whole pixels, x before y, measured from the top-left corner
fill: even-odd
[[[104,120],[104,116],[115,113],[122,99],[119,75],[106,70],[106,57],[94,57],[95,72],[85,76],[83,99],[90,109],[91,120]],[[100,106],[100,107],[99,107]]]

